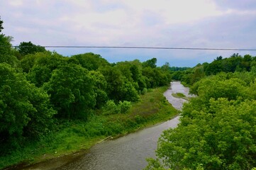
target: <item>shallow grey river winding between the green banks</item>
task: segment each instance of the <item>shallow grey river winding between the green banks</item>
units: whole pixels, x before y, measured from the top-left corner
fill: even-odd
[[[181,110],[182,104],[186,101],[182,98],[174,98],[172,96],[174,93],[189,96],[189,89],[180,84],[179,81],[172,81],[170,88],[165,91],[164,95],[169,103],[172,103],[174,108]],[[175,128],[178,123],[179,117],[176,117],[160,125],[140,130],[116,140],[101,142],[92,147],[83,157],[59,169],[143,169],[148,164],[146,158],[155,158],[157,140],[162,131]]]

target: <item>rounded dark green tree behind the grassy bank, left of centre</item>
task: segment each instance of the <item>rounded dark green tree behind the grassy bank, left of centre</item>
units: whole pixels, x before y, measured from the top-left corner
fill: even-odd
[[[43,89],[50,95],[60,118],[87,120],[89,111],[96,105],[94,79],[77,64],[63,64],[55,69]]]

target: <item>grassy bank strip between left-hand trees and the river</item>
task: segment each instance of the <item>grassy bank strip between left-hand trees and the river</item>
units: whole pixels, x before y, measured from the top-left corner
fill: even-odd
[[[133,103],[126,114],[103,115],[96,111],[87,122],[70,120],[56,125],[54,132],[38,142],[28,142],[22,149],[0,157],[0,169],[21,162],[35,163],[89,149],[108,136],[119,137],[156,123],[169,120],[177,111],[162,95],[167,87],[148,91]]]

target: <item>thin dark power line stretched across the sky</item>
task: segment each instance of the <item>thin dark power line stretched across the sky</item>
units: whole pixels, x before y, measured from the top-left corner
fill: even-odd
[[[2,47],[2,46],[0,46]],[[13,45],[12,47],[18,47]],[[31,47],[31,46],[23,46]],[[256,51],[244,48],[206,48],[206,47],[143,47],[143,46],[74,46],[74,45],[45,45],[45,48],[119,48],[119,49],[155,49],[155,50],[223,50],[223,51]]]

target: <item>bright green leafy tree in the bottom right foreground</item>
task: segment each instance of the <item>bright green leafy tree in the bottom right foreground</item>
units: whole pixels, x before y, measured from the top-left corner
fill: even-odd
[[[184,108],[190,115],[182,113],[178,128],[163,133],[157,157],[171,169],[252,169],[256,166],[255,104],[218,98],[197,111],[192,100]]]

